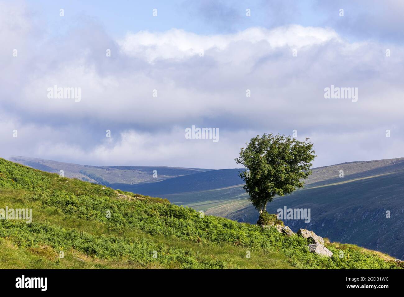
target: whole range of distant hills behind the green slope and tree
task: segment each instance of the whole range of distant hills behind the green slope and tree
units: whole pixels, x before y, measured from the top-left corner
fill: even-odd
[[[32,159],[29,158],[28,161]],[[242,188],[242,180],[238,176],[238,172],[242,169],[136,166],[117,169],[116,166],[67,163],[59,165],[59,162],[44,161],[35,161],[27,165],[57,173],[59,170],[53,168],[70,168],[71,165],[76,173],[80,170],[86,171],[87,175],[81,179],[95,174],[115,189],[166,198],[177,205],[193,207],[196,210],[203,210],[206,214],[239,222],[252,224],[257,222],[258,213],[248,201],[248,195]],[[151,177],[154,170],[151,168],[162,168],[157,169],[160,181],[151,182],[156,181]],[[341,170],[343,178],[339,177]],[[89,180],[96,182],[94,178],[97,177],[92,177],[93,179]],[[117,180],[121,182],[115,182]],[[285,220],[285,223],[293,231],[309,228],[318,234],[327,234],[332,241],[355,243],[404,259],[403,182],[404,158],[317,167],[305,181],[303,189],[276,198],[268,205],[267,210],[276,213],[278,208],[284,206],[310,208],[309,224],[298,220]],[[391,213],[390,219],[385,218],[387,210]]]

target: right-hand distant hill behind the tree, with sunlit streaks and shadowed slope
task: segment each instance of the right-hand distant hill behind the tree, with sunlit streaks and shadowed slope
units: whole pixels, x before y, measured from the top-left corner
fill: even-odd
[[[339,177],[340,170],[343,178]],[[160,197],[239,222],[255,223],[258,219],[242,185]],[[276,213],[284,206],[311,209],[308,224],[284,220],[295,232],[310,229],[327,234],[332,241],[354,243],[404,259],[404,158],[314,168],[303,189],[277,197],[267,210]],[[386,218],[386,211],[391,218]]]

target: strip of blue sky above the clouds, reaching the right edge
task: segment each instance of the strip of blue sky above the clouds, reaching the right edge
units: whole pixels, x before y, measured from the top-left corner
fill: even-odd
[[[248,27],[276,27],[291,23],[303,26],[330,26],[351,39],[378,38],[402,42],[402,6],[399,1],[377,0],[255,0],[255,1],[35,1],[31,9],[46,19],[58,34],[62,28],[92,18],[116,38],[128,31],[166,31],[181,28],[198,34],[234,33]],[[64,8],[61,22],[55,13]],[[158,10],[158,18],[152,10]],[[245,17],[246,9],[250,18]],[[339,9],[344,9],[344,18]]]

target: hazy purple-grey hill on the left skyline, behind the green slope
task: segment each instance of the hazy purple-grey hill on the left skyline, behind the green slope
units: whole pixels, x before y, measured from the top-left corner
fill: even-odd
[[[65,177],[108,185],[158,182],[212,170],[164,166],[90,166],[20,156],[12,156],[9,160],[46,172],[59,174],[60,170],[63,170]],[[157,170],[157,178],[153,177],[154,170]]]

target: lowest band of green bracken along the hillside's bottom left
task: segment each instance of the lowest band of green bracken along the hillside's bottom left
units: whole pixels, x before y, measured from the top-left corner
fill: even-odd
[[[224,268],[222,261],[208,259],[187,249],[176,247],[164,247],[147,238],[128,239],[118,236],[93,236],[88,233],[78,232],[74,229],[65,230],[58,226],[48,224],[25,224],[22,222],[3,222],[0,229],[1,237],[12,238],[12,242],[18,246],[29,247],[35,254],[44,254],[45,257],[55,259],[55,251],[64,247],[73,247],[90,257],[103,259],[128,258],[129,261],[149,264],[156,261],[160,264],[168,264],[177,261],[181,268]],[[44,244],[53,248],[31,248],[31,245]],[[153,258],[154,251],[158,257]]]

